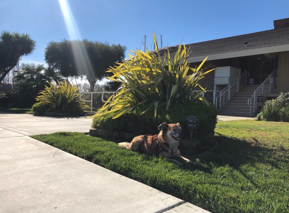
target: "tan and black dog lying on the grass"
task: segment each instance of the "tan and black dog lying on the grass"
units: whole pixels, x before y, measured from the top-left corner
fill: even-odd
[[[135,137],[130,143],[121,142],[119,146],[126,147],[128,150],[136,151],[141,148],[147,154],[158,154],[166,158],[168,162],[175,163],[182,166],[176,159],[171,157],[179,157],[184,159],[187,163],[197,164],[189,159],[181,156],[178,146],[182,139],[182,128],[179,123],[167,124],[162,123],[158,126],[160,130],[157,135],[140,135]]]

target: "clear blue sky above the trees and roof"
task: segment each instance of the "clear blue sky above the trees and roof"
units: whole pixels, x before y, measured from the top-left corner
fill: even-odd
[[[64,0],[60,0],[64,1]],[[79,39],[140,48],[154,31],[172,46],[273,29],[273,20],[289,18],[289,1],[216,0],[65,0]],[[22,63],[45,64],[50,41],[70,40],[59,0],[1,0],[0,31],[28,33],[37,42]],[[289,35],[288,35],[289,36]]]

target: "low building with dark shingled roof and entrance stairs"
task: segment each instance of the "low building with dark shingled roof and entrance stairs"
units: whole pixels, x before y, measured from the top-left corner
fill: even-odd
[[[262,99],[289,92],[289,18],[273,24],[272,30],[186,45],[190,66],[198,66],[208,57],[203,67],[216,68],[200,84],[208,91],[206,99],[217,105],[220,114],[254,116]],[[171,57],[176,48],[169,47]],[[239,70],[238,76],[225,71],[233,68]],[[245,80],[240,82],[240,74],[245,72]],[[227,79],[217,79],[225,73],[230,75],[223,76]],[[220,92],[228,88],[230,91]]]

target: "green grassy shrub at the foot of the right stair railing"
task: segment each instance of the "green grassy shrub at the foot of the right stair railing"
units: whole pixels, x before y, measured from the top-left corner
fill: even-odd
[[[267,100],[257,118],[262,121],[281,121],[281,109],[274,100]]]

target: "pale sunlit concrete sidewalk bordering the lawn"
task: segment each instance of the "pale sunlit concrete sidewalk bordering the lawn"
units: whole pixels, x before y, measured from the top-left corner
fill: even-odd
[[[28,137],[89,132],[91,122],[0,112],[0,211],[208,212]]]

